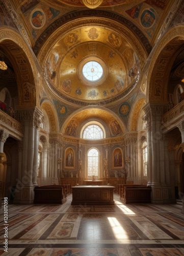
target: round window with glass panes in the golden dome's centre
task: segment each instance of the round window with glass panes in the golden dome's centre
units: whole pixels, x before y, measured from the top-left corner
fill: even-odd
[[[97,81],[102,74],[103,69],[97,61],[89,61],[83,67],[83,75],[88,81]]]

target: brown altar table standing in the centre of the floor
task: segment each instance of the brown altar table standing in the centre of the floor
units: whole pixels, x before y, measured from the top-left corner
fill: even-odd
[[[72,187],[71,205],[106,205],[114,204],[114,186],[80,185]]]

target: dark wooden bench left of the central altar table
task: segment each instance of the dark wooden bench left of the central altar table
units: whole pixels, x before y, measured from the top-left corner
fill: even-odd
[[[60,185],[36,186],[34,191],[35,204],[63,204],[67,200],[67,195]]]

